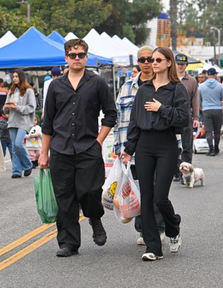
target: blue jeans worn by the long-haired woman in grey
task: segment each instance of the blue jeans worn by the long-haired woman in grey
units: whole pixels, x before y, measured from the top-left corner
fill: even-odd
[[[9,128],[9,134],[13,145],[13,170],[12,173],[22,176],[22,170],[29,170],[33,164],[23,145],[26,130],[22,128]]]

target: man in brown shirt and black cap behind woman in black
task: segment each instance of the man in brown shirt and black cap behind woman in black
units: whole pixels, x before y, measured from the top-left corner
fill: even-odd
[[[185,54],[177,54],[175,56],[175,62],[178,77],[181,83],[185,86],[190,97],[191,107],[189,125],[185,127],[183,134],[181,135],[183,145],[181,159],[184,162],[192,163],[193,129],[199,126],[199,93],[197,89],[197,81],[185,71],[188,65],[188,58]],[[175,174],[174,181],[180,181],[179,171]]]

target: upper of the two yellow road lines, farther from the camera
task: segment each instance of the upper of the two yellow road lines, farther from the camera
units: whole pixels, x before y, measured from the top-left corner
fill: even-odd
[[[15,240],[14,242],[8,244],[7,246],[4,246],[3,248],[0,249],[0,256],[8,253],[8,251],[13,250],[17,246],[20,246],[22,243],[28,241],[29,239],[35,237],[36,235],[42,233],[43,231],[49,229],[49,227],[52,227],[54,225],[55,223],[42,225],[36,228],[35,230],[29,232],[28,234],[25,234],[20,239]]]

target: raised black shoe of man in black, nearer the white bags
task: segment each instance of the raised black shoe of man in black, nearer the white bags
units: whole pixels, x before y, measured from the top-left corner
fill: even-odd
[[[106,235],[105,229],[102,225],[102,221],[100,220],[100,218],[98,219],[91,218],[89,219],[89,223],[93,229],[92,237],[93,237],[93,241],[95,242],[95,244],[97,244],[98,246],[105,245],[107,235]]]

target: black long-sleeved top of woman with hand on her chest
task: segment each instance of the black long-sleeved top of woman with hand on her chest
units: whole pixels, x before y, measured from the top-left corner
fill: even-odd
[[[153,98],[161,103],[157,112],[146,111],[144,104],[153,102]],[[140,131],[162,131],[172,129],[177,134],[183,133],[190,118],[190,101],[187,90],[182,83],[171,83],[161,86],[155,91],[153,81],[141,86],[134,98],[128,127],[125,152],[134,154]]]

